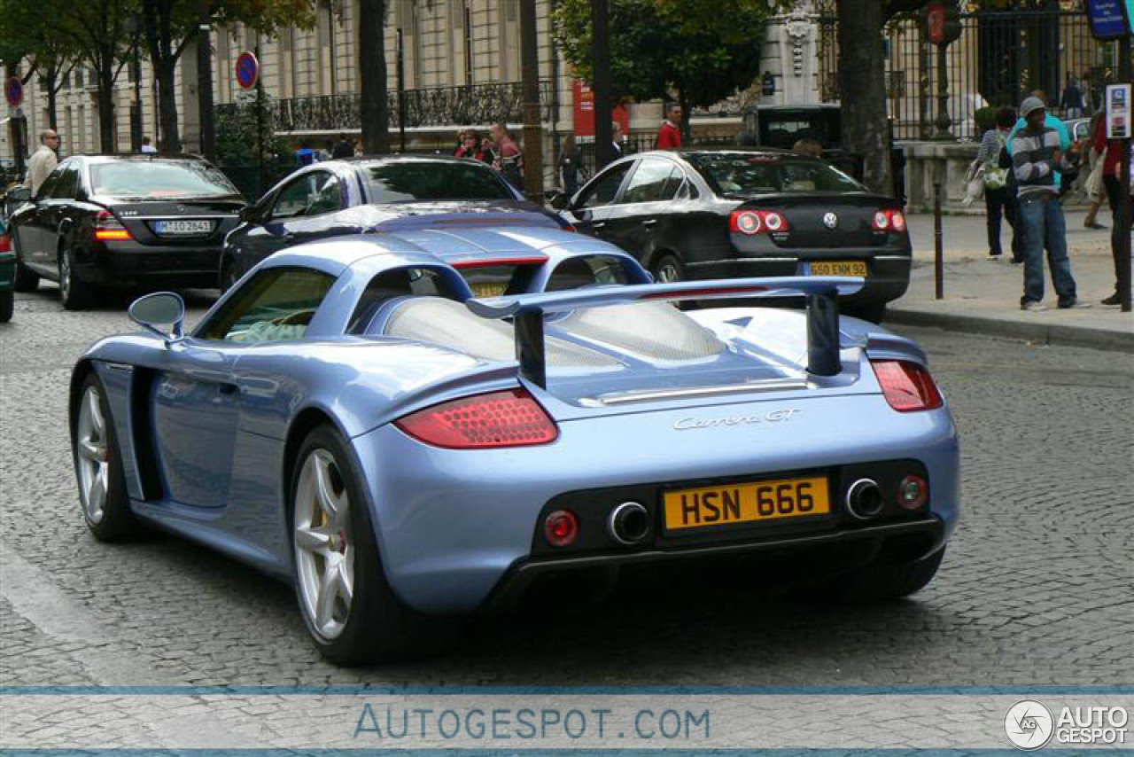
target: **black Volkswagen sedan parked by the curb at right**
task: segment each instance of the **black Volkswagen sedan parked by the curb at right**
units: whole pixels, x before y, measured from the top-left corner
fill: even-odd
[[[551,204],[661,281],[862,276],[866,285],[844,311],[874,321],[909,285],[909,234],[898,202],[784,150],[643,152]]]

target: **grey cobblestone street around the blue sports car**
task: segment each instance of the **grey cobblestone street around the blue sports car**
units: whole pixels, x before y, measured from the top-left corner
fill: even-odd
[[[587,612],[477,621],[443,657],[340,670],[319,658],[287,587],[172,537],[88,536],[66,387],[85,345],[129,328],[125,304],[66,312],[46,285],[0,325],[3,684],[1134,681],[1127,354],[898,329],[930,354],[963,449],[962,524],[911,600],[828,606],[764,591],[775,577],[699,573],[631,582]],[[209,300],[189,304],[195,320]]]

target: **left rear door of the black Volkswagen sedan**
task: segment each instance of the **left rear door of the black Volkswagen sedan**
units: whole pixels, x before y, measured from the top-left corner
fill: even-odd
[[[618,202],[609,209],[603,238],[648,262],[657,246],[655,235],[670,220],[670,205],[684,178],[672,160],[638,160]]]

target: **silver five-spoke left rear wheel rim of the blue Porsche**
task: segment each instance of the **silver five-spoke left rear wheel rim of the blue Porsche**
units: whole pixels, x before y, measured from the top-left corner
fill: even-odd
[[[327,449],[303,461],[293,522],[299,599],[315,632],[335,639],[350,616],[355,545],[346,482]]]

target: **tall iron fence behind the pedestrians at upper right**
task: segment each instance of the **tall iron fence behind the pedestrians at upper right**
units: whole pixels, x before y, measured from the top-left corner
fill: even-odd
[[[1091,35],[1082,11],[1010,10],[965,14],[960,37],[947,49],[953,133],[978,138],[981,108],[1018,106],[1023,96],[1042,90],[1051,110],[1074,117],[1061,103],[1068,77],[1082,82],[1084,116],[1101,107],[1102,90],[1118,73],[1117,43]],[[819,95],[824,102],[840,99],[838,40],[835,16],[819,18]],[[896,140],[926,138],[937,117],[937,48],[917,22],[904,18],[886,31],[887,109]],[[990,113],[982,113],[988,118]]]

